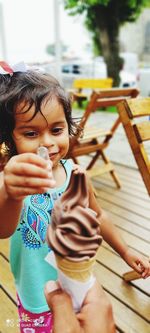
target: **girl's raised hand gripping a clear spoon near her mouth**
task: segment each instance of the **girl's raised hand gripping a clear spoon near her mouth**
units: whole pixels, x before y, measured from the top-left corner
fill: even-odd
[[[15,200],[44,193],[55,186],[52,162],[33,153],[13,156],[4,168],[4,187],[7,195]]]

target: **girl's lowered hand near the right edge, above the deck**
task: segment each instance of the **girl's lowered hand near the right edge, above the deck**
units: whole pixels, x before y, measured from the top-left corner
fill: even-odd
[[[143,279],[150,276],[150,259],[136,254],[130,248],[125,252],[123,259],[131,266],[136,272],[141,274]]]

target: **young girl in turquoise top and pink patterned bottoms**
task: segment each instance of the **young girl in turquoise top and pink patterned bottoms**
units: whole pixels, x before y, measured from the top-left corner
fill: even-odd
[[[0,74],[0,144],[8,154],[0,173],[0,237],[11,236],[22,333],[52,329],[44,285],[56,280],[57,272],[45,260],[45,237],[54,201],[66,190],[74,168],[65,160],[73,132],[70,100],[53,77],[31,70]],[[40,146],[48,149],[49,161],[38,156]],[[105,241],[142,277],[149,276],[148,260],[121,239],[98,206],[90,182],[89,202],[99,215]]]

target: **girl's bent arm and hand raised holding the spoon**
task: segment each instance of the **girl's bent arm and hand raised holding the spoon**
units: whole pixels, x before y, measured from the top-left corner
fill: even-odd
[[[0,173],[0,238],[15,231],[23,199],[54,187],[52,165],[36,154],[13,156]]]

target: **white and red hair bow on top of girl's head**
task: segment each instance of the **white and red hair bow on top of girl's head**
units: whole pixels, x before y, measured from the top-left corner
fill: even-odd
[[[13,75],[13,73],[17,72],[22,72],[25,73],[27,72],[27,66],[25,65],[24,62],[19,62],[18,64],[15,64],[13,66],[10,66],[7,64],[5,61],[0,61],[0,74],[2,75]]]

